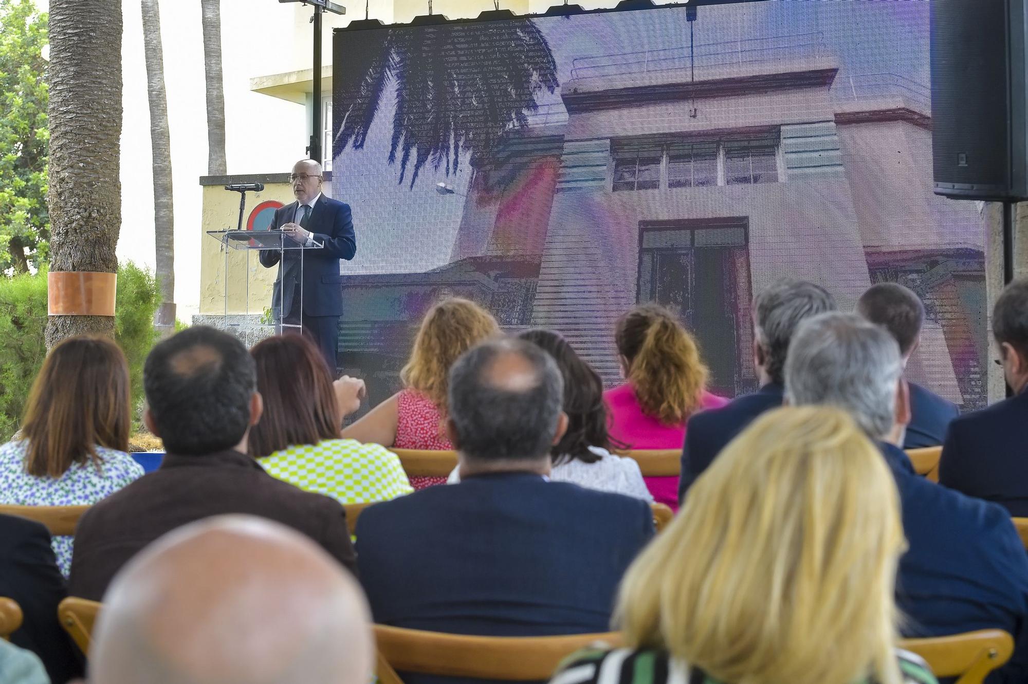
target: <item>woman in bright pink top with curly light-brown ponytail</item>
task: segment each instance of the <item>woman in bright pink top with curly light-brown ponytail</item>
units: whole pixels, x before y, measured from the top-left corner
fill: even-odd
[[[662,306],[645,304],[618,320],[621,373],[627,382],[603,392],[611,438],[627,449],[682,449],[686,421],[728,400],[706,391],[707,369],[692,335]],[[677,508],[677,478],[647,478],[654,499]]]

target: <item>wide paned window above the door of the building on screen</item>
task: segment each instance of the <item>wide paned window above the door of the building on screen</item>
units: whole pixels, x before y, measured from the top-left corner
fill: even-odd
[[[780,132],[612,141],[612,190],[778,183]]]

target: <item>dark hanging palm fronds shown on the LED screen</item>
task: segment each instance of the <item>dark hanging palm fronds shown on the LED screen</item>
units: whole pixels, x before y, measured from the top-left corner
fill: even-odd
[[[384,39],[382,39],[384,36]],[[396,85],[389,163],[400,157],[410,187],[426,163],[455,173],[461,153],[487,155],[504,132],[527,125],[536,93],[553,92],[556,64],[530,20],[356,31],[336,59],[339,155],[364,147],[382,92]]]

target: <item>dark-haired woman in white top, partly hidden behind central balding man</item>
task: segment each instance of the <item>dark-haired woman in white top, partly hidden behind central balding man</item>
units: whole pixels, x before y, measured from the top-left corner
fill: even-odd
[[[567,416],[567,431],[550,449],[550,480],[652,502],[653,496],[642,481],[638,463],[610,451],[603,382],[596,372],[575,353],[559,333],[535,329],[518,337],[553,356],[564,383],[562,408]],[[460,469],[461,466],[453,468],[449,483],[461,482]]]

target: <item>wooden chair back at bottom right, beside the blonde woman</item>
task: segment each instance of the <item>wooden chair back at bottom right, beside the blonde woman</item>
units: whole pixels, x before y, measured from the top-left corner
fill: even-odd
[[[1002,630],[979,630],[951,637],[904,639],[900,647],[917,653],[935,677],[958,677],[956,684],[982,684],[1011,659],[1014,638]]]

